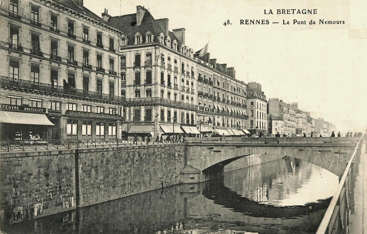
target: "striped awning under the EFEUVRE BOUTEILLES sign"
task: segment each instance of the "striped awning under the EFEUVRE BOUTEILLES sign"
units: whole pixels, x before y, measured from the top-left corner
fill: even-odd
[[[54,125],[46,114],[0,111],[0,122],[9,124]]]

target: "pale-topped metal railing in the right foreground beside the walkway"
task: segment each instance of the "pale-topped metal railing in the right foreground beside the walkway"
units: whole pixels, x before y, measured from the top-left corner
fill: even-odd
[[[362,137],[346,165],[342,178],[339,180],[337,191],[331,199],[316,234],[349,233],[350,213],[354,211],[355,177],[360,161],[361,141]]]

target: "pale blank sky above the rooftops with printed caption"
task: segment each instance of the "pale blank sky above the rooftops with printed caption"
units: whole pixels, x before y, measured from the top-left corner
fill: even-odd
[[[334,123],[337,131],[366,131],[367,1],[84,0],[99,16],[104,8],[111,16],[136,13],[138,5],[155,19],[168,18],[170,31],[185,28],[185,45],[194,51],[209,42],[210,58],[235,67],[238,80],[260,83],[268,99],[298,102],[299,109]],[[264,14],[270,9],[273,14]],[[277,9],[317,9],[317,14],[276,14]],[[241,19],[269,24],[240,25]],[[293,25],[294,19],[306,25]],[[320,19],[344,24],[320,25]],[[232,25],[224,26],[227,20]]]

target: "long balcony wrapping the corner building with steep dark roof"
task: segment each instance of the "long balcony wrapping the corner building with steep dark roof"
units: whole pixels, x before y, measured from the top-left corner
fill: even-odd
[[[171,100],[171,99],[166,99],[166,98],[128,98],[125,99],[125,105],[136,105],[136,104],[163,104],[163,105],[168,105],[168,106],[172,106],[172,107],[183,107],[183,108],[188,108],[188,109],[192,109],[192,110],[197,110],[197,105],[193,105],[190,103],[185,103],[185,102],[180,102],[180,101],[175,101],[175,100]]]

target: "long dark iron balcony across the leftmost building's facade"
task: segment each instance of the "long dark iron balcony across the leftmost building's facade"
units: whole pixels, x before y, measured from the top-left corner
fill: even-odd
[[[65,88],[58,85],[34,83],[30,80],[14,80],[11,77],[0,76],[1,88],[17,90],[18,92],[31,92],[34,94],[52,95],[66,98],[80,98],[83,100],[105,100],[111,102],[123,102],[120,96],[101,94],[83,89]]]

